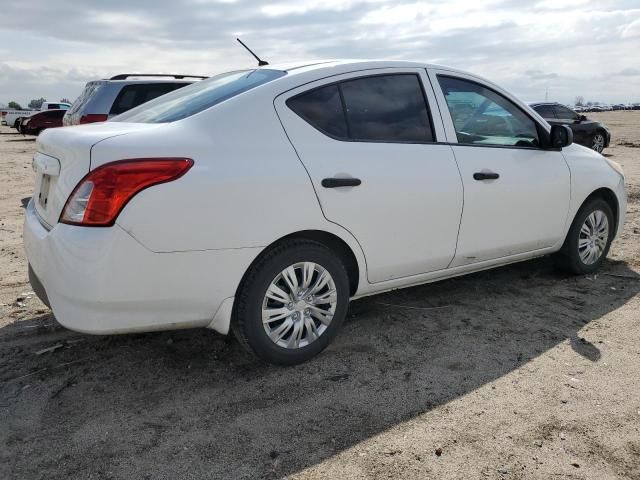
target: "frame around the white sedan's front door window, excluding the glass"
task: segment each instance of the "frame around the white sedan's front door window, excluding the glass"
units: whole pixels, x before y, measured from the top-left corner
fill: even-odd
[[[444,123],[445,135],[447,137],[447,141],[444,142],[448,145],[452,146],[460,146],[460,147],[478,147],[478,148],[508,148],[508,149],[518,149],[518,150],[544,150],[542,146],[539,147],[527,147],[527,146],[516,146],[516,145],[483,145],[483,144],[471,144],[471,143],[460,143],[458,142],[458,137],[455,132],[455,127],[453,124],[453,118],[451,118],[451,113],[449,112],[449,107],[447,105],[447,101],[444,97],[444,93],[442,91],[442,87],[440,86],[440,82],[438,81],[438,77],[450,77],[456,80],[462,80],[465,82],[471,82],[476,85],[479,85],[483,88],[491,90],[493,93],[500,95],[505,98],[509,102],[511,102],[518,110],[520,110],[524,115],[526,115],[536,126],[536,130],[538,132],[538,136],[548,138],[549,131],[548,129],[542,125],[538,120],[536,120],[529,112],[523,109],[517,102],[514,102],[513,99],[509,97],[509,95],[505,95],[503,92],[500,92],[496,88],[493,88],[491,85],[487,85],[482,82],[480,79],[474,78],[470,75],[460,74],[455,71],[444,70],[444,69],[427,69],[427,74],[429,77],[429,81],[434,89],[436,102],[438,103],[438,109],[440,110],[440,116]],[[442,142],[441,142],[442,143]]]

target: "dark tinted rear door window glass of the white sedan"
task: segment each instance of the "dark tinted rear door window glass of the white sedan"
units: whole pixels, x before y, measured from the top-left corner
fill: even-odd
[[[340,140],[433,142],[420,78],[375,75],[302,93],[287,105],[325,134]]]

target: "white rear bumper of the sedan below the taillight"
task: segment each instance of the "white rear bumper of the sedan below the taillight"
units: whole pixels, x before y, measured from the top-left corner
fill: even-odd
[[[260,251],[154,253],[118,225],[49,231],[33,202],[24,245],[34,292],[62,325],[92,334],[206,326],[227,333],[229,299]]]

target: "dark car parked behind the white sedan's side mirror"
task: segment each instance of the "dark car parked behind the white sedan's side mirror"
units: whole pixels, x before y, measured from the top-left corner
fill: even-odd
[[[611,133],[600,122],[580,115],[559,103],[532,103],[531,107],[550,125],[568,125],[573,130],[573,141],[598,153],[609,146]]]

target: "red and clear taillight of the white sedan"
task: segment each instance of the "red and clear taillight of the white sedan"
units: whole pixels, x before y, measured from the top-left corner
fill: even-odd
[[[102,165],[71,192],[60,222],[109,227],[137,193],[180,178],[193,166],[190,158],[136,158]]]

